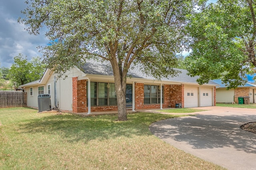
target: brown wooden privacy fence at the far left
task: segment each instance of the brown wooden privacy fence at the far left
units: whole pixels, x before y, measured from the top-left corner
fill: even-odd
[[[20,91],[0,91],[0,108],[26,107],[27,93]]]

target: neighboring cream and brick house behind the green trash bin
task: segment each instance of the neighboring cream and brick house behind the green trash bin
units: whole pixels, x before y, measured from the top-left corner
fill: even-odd
[[[246,83],[244,86],[227,90],[227,86],[220,79],[212,81],[220,84],[216,87],[216,103],[238,104],[238,97],[250,97],[250,103],[256,103],[256,85]]]

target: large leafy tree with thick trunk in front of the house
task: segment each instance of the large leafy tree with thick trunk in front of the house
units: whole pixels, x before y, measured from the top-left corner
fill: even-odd
[[[202,1],[202,0],[201,0]],[[176,74],[176,53],[186,46],[185,16],[191,0],[27,0],[30,34],[52,40],[42,47],[44,62],[60,76],[86,59],[110,62],[118,120],[126,116],[126,76],[133,64],[156,79]]]

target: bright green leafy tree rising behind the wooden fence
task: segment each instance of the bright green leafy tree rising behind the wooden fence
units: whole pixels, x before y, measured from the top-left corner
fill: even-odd
[[[27,57],[19,54],[14,57],[7,78],[9,78],[17,88],[22,84],[39,80],[45,71],[45,65],[41,63],[39,57],[33,57],[31,62],[28,62]]]

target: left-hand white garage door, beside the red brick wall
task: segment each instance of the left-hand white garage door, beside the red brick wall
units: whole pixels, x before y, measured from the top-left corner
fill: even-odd
[[[198,107],[198,88],[184,88],[184,107]]]

